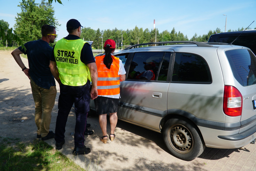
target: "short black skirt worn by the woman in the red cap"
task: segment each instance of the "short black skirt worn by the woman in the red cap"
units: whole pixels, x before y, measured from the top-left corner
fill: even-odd
[[[117,112],[119,99],[98,96],[94,99],[96,114],[111,114]]]

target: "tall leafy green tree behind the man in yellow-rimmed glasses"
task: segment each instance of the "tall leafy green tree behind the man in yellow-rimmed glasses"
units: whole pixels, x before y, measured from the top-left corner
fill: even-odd
[[[14,28],[17,34],[28,35],[29,41],[41,38],[42,25],[54,25],[56,28],[60,25],[54,17],[52,5],[45,0],[42,0],[40,4],[35,3],[34,0],[22,0],[18,7],[21,7],[21,13],[15,17]]]

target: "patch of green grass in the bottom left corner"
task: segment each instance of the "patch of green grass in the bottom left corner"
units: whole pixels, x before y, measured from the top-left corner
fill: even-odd
[[[0,170],[83,170],[46,142],[26,145],[17,139],[0,137]]]

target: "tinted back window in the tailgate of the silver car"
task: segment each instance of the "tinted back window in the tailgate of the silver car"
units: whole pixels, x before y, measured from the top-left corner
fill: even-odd
[[[235,79],[242,86],[256,84],[256,57],[247,49],[227,50],[226,56]]]

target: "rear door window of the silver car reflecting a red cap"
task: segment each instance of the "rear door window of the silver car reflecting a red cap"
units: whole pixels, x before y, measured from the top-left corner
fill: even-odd
[[[165,52],[137,52],[134,53],[127,79],[156,80],[160,62]]]

